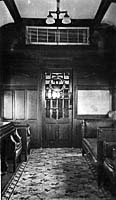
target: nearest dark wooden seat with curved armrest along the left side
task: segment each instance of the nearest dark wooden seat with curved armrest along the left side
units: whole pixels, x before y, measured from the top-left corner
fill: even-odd
[[[12,122],[3,125],[1,129],[1,157],[2,171],[7,171],[10,163],[13,165],[13,172],[16,170],[17,161],[21,161],[22,141]]]

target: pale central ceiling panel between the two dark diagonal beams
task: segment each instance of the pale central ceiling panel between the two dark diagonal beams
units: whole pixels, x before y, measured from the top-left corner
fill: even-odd
[[[22,17],[46,18],[56,10],[56,0],[15,0]],[[67,10],[72,19],[94,18],[101,0],[60,0],[60,10]]]

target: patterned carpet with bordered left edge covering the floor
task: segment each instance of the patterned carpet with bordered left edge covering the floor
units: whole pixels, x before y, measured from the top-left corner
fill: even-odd
[[[80,149],[57,148],[31,151],[12,179],[2,200],[112,200],[97,187]]]

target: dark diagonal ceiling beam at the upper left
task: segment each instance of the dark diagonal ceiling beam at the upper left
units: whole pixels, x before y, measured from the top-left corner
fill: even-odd
[[[3,0],[15,22],[21,21],[20,13],[14,0]]]

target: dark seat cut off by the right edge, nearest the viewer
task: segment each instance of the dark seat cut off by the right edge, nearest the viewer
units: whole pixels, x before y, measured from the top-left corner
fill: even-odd
[[[108,177],[112,194],[116,194],[116,128],[100,127],[98,130],[103,141],[102,179]],[[105,183],[105,180],[104,180]]]

